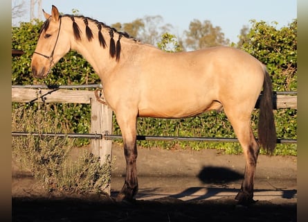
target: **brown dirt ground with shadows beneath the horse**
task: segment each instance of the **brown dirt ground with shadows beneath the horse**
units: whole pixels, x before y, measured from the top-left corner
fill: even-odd
[[[78,152],[77,150],[75,152]],[[260,155],[255,200],[238,206],[242,155],[216,150],[138,149],[139,192],[134,203],[115,203],[123,185],[123,149],[113,147],[111,197],[46,193],[12,161],[12,221],[296,221],[297,158]]]

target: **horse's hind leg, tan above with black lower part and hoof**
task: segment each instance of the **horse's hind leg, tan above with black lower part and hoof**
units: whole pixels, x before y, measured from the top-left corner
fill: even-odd
[[[226,112],[227,111],[227,112]],[[243,113],[240,117],[237,114],[230,113],[225,110],[226,115],[235,130],[239,144],[241,144],[246,159],[246,166],[244,171],[244,180],[242,187],[235,197],[239,201],[239,204],[248,205],[254,203],[253,200],[253,182],[255,177],[255,169],[257,167],[257,156],[260,151],[260,147],[257,144],[253,131],[251,129],[251,115]]]

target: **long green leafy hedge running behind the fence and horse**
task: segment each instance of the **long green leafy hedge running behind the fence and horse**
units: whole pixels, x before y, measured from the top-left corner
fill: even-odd
[[[98,75],[82,56],[71,51],[52,69],[44,80],[33,78],[30,70],[31,57],[37,43],[42,22],[21,23],[12,27],[12,49],[21,49],[24,55],[12,57],[12,85],[81,85],[100,83]],[[273,80],[275,91],[296,91],[297,89],[297,22],[289,26],[276,28],[265,22],[252,21],[252,28],[243,37],[240,48],[251,53],[266,64]],[[91,89],[89,89],[91,90]],[[12,103],[12,108],[36,108],[37,104]],[[283,109],[275,112],[275,121],[279,138],[296,139],[297,110]],[[46,114],[51,118],[60,118],[60,131],[88,133],[90,128],[90,106],[85,104],[46,105]],[[257,110],[253,113],[253,129],[256,133]],[[120,134],[114,118],[114,134]],[[138,119],[139,135],[172,135],[194,137],[235,137],[224,112],[207,112],[188,119]],[[78,139],[78,145],[89,144],[87,139]],[[161,146],[172,148],[218,148],[226,153],[240,153],[237,143],[201,143],[201,142],[138,142],[141,146]],[[278,145],[275,154],[296,155],[296,144]]]

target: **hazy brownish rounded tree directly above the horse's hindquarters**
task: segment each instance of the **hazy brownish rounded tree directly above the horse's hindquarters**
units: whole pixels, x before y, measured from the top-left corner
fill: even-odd
[[[200,22],[194,19],[190,22],[189,30],[184,31],[185,46],[187,49],[197,50],[210,46],[228,45],[230,40],[226,39],[219,26],[212,26],[209,20]]]

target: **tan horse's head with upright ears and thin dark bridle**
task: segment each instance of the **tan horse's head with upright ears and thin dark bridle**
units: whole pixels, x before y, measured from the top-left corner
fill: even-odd
[[[51,15],[44,10],[43,12],[46,22],[39,34],[31,62],[33,75],[38,78],[46,77],[55,63],[70,49],[69,38],[64,35],[62,17],[57,8],[53,6]]]

